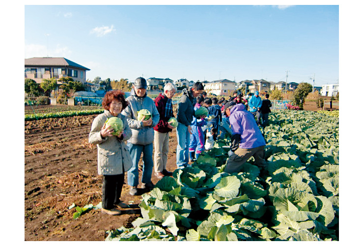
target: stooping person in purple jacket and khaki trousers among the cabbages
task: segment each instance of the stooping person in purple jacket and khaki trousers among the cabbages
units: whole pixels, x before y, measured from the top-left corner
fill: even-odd
[[[244,104],[228,104],[225,112],[229,116],[232,137],[229,158],[224,171],[227,173],[240,172],[244,163],[252,156],[255,160],[254,164],[259,169],[264,168],[266,165],[265,140],[252,113],[245,109]]]

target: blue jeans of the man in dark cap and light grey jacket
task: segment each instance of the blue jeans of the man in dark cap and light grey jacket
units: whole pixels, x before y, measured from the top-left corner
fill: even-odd
[[[127,143],[129,148],[130,157],[132,158],[133,166],[128,171],[128,184],[130,186],[138,186],[139,184],[139,171],[138,162],[143,153],[143,172],[141,175],[141,183],[148,184],[151,182],[153,172],[153,143],[148,145],[138,145]]]

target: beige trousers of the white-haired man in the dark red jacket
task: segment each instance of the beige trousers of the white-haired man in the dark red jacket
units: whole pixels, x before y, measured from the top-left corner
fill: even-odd
[[[154,131],[154,171],[162,172],[167,167],[169,132]]]

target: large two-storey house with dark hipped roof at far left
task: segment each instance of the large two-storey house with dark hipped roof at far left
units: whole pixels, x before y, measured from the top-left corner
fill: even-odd
[[[86,82],[87,67],[72,62],[63,57],[34,57],[25,59],[24,76],[36,83],[42,83],[43,79],[71,77],[74,81]],[[57,82],[60,84],[59,82]]]

